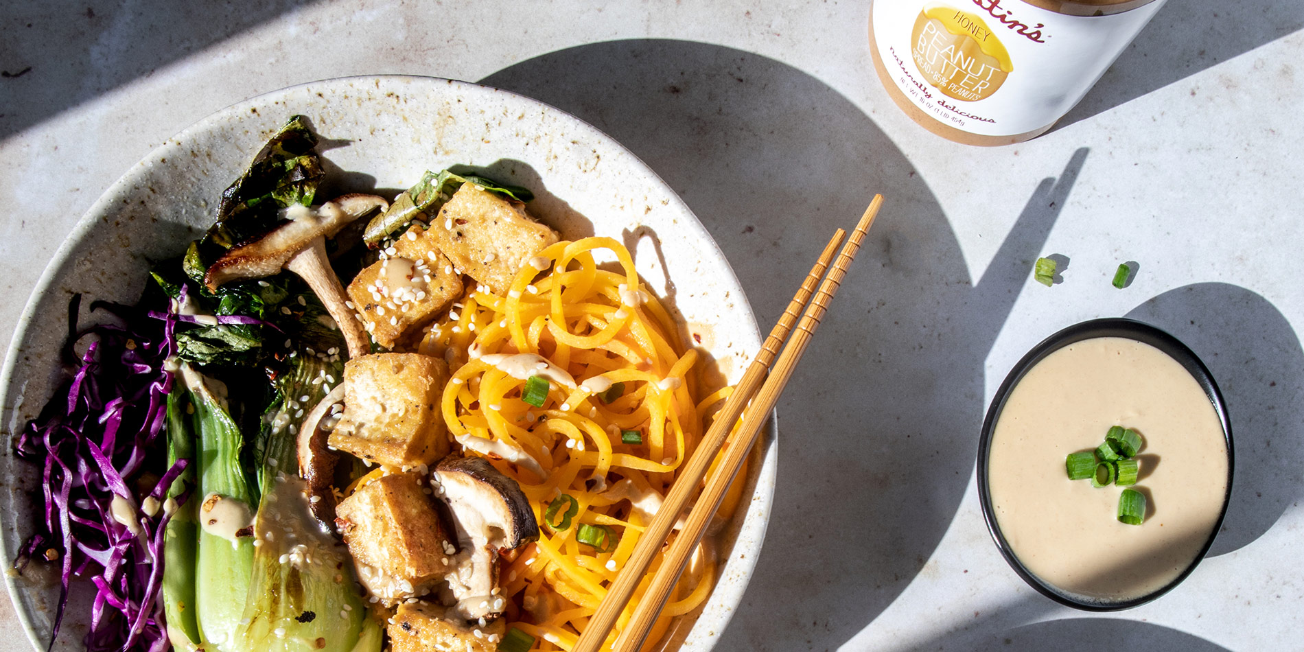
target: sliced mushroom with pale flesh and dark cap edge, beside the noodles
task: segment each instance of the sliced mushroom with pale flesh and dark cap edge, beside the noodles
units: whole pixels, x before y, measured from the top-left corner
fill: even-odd
[[[485,535],[489,545],[510,550],[539,539],[535,510],[520,485],[482,458],[445,458],[436,464],[434,479],[443,488],[441,498],[455,519],[462,522],[460,514],[475,510],[486,526],[502,532],[502,536]]]

